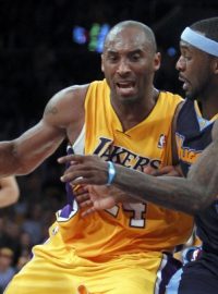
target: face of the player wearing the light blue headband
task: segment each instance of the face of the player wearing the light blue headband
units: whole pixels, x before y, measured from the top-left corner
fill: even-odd
[[[213,75],[209,54],[184,41],[180,42],[180,50],[175,68],[186,97],[192,100],[206,99]]]

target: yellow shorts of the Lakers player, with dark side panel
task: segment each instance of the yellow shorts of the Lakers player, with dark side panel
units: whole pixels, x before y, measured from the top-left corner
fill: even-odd
[[[34,247],[33,259],[12,279],[5,294],[162,294],[174,268],[161,253],[134,253],[107,260],[78,257],[57,233]]]

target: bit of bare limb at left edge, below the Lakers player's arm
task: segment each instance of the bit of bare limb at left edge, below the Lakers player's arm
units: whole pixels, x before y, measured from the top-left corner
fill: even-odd
[[[0,207],[16,203],[19,195],[20,189],[14,176],[8,176],[0,180]]]

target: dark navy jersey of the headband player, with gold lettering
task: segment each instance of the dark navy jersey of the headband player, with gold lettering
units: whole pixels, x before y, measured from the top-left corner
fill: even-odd
[[[195,162],[201,152],[211,143],[214,122],[215,118],[210,121],[202,118],[196,102],[189,99],[185,100],[178,117],[175,133],[179,159],[185,176],[191,164]],[[218,271],[218,201],[214,201],[204,211],[197,213],[195,222],[197,234],[203,241],[204,250],[215,254],[213,259]]]

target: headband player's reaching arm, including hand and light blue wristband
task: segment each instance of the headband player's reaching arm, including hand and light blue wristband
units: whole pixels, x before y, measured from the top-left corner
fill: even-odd
[[[134,195],[134,200],[150,201],[190,215],[204,209],[218,195],[218,191],[215,188],[208,189],[206,182],[201,180],[203,175],[201,177],[195,176],[195,179],[153,176],[119,164],[114,164],[117,172],[110,173],[108,163],[97,156],[71,155],[59,159],[60,163],[72,161],[74,164],[70,164],[61,176],[62,182],[72,182],[74,185],[105,185],[112,182],[128,195],[130,193]],[[112,180],[109,181],[111,174]],[[213,179],[213,183],[217,183],[218,175],[216,176],[215,173]],[[116,200],[124,201],[125,199],[121,196]]]

